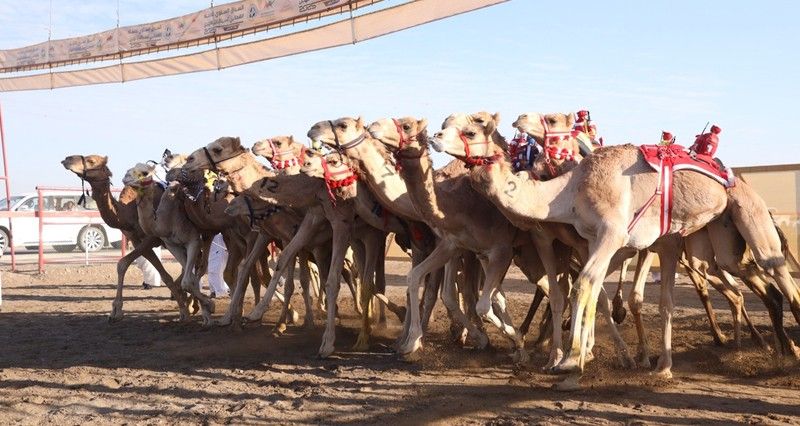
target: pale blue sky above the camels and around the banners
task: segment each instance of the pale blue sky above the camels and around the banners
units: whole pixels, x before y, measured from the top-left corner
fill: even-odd
[[[52,25],[50,3],[0,1],[0,49],[116,26],[117,0],[52,0]],[[119,0],[120,24],[208,6]],[[510,0],[222,71],[0,93],[12,192],[79,185],[59,164],[70,154],[108,155],[119,185],[165,148],[189,152],[221,136],[307,142],[313,123],[343,116],[425,117],[433,130],[451,113],[482,110],[500,112],[510,137],[523,112],[589,109],[607,144],[657,143],[667,130],[690,145],[711,122],[726,164],[800,163],[798,15],[796,1]]]

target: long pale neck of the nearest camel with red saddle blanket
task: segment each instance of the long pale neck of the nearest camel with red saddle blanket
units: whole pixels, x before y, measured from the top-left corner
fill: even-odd
[[[526,173],[514,174],[505,157],[470,172],[473,188],[524,229],[537,221],[571,223],[575,197],[571,177],[567,173],[549,181],[533,180]]]

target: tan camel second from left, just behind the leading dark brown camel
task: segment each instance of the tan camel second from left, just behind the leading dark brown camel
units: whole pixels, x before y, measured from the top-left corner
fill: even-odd
[[[203,256],[202,236],[180,211],[177,203],[167,201],[164,206],[161,205],[162,196],[169,200],[170,195],[164,194],[165,189],[155,180],[155,174],[156,165],[138,163],[125,173],[122,182],[137,190],[136,207],[142,230],[160,238],[181,264],[181,288],[200,302],[203,325],[208,326],[211,313],[214,312],[214,302],[200,291],[202,274],[198,273],[196,267],[197,259]]]

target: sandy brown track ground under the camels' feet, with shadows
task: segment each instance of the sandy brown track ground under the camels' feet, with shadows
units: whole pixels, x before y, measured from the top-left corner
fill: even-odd
[[[404,299],[409,266],[387,266],[395,301]],[[176,272],[176,265],[169,269]],[[349,350],[357,318],[343,290],[338,352],[320,360],[314,355],[321,320],[311,331],[289,326],[275,336],[272,309],[263,324],[240,332],[202,330],[197,318],[176,321],[166,288],[134,285],[141,282],[138,271],[126,281],[125,318],[109,324],[113,271],[111,265],[53,265],[43,275],[3,272],[0,424],[800,424],[800,366],[778,365],[749,339],[738,351],[713,346],[697,296],[683,281],[675,292],[674,379],[618,367],[599,327],[585,388],[561,393],[550,389],[556,378],[539,371],[546,362],[541,350],[530,347],[530,363],[516,367],[509,343],[491,327],[495,349],[451,343],[441,306],[421,359],[409,363],[391,350],[400,330],[395,318],[377,330],[369,353]],[[530,285],[519,278],[512,274],[505,284],[517,321],[531,298]],[[657,296],[649,286],[653,353],[661,340]],[[752,294],[746,297],[768,334],[764,310]],[[713,300],[730,332],[727,304]],[[216,315],[226,307],[221,299]],[[635,348],[630,317],[621,329]],[[790,333],[800,340],[796,325]]]

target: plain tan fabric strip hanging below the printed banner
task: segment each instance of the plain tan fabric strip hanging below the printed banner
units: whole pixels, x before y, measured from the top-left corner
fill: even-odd
[[[252,62],[353,44],[508,0],[412,0],[398,6],[280,37],[151,61],[0,79],[0,92],[122,83],[219,70]]]

